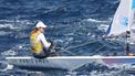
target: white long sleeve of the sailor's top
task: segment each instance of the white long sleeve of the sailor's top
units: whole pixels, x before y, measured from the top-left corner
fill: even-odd
[[[42,44],[43,44],[43,46],[44,46],[45,48],[49,48],[49,47],[51,46],[51,43],[49,43],[49,42],[46,41],[46,39],[45,39],[45,36],[44,36],[43,33],[40,33],[40,34],[38,35],[38,41],[42,42]]]

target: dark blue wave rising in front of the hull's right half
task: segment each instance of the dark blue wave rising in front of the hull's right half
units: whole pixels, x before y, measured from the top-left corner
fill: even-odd
[[[90,76],[133,76],[133,74],[127,73],[129,68],[131,64],[107,65],[94,62],[74,69],[71,74]]]

